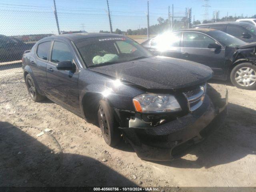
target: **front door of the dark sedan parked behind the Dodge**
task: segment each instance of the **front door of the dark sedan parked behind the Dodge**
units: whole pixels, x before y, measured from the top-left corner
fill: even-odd
[[[218,44],[213,38],[200,32],[183,32],[182,59],[209,66],[214,76],[222,76],[225,70],[225,50],[208,48],[209,44]]]

